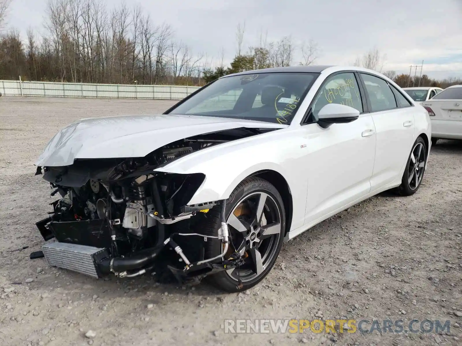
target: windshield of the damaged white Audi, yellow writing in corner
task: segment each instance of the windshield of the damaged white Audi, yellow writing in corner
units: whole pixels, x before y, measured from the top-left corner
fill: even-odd
[[[267,72],[220,78],[168,114],[290,124],[319,73]]]

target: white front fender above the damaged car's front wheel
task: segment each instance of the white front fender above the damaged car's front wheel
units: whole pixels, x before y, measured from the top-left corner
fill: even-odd
[[[236,186],[255,172],[272,170],[287,182],[292,197],[292,228],[303,226],[308,177],[308,156],[301,127],[286,128],[243,138],[179,157],[157,172],[202,173],[205,180],[188,205],[226,199]]]

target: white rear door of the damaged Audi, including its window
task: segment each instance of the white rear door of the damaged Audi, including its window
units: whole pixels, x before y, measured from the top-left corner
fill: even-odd
[[[371,191],[401,180],[414,136],[415,106],[385,79],[360,72],[377,132]]]

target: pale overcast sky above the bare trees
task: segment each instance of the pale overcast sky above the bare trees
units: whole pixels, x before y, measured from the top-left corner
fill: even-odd
[[[119,0],[103,0],[108,7]],[[47,0],[13,0],[8,24],[23,37],[30,25],[44,31]],[[127,0],[130,4],[132,1]],[[384,70],[409,73],[420,65],[434,78],[462,77],[462,0],[143,0],[157,24],[195,52],[225,62],[236,54],[236,28],[245,21],[243,47],[292,36],[314,40],[316,64],[352,64],[376,46],[387,55]],[[299,59],[294,61],[298,63]],[[414,74],[415,71],[413,71]],[[418,74],[420,69],[418,69]]]

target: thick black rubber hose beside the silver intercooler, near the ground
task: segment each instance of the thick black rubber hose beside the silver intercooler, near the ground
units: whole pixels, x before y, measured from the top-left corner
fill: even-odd
[[[157,246],[150,249],[142,250],[136,253],[134,256],[130,257],[116,257],[103,260],[98,264],[98,267],[103,273],[111,272],[111,261],[112,261],[112,270],[116,273],[124,272],[127,270],[141,269],[147,264],[151,263],[154,258],[157,257],[160,251],[164,246]]]

